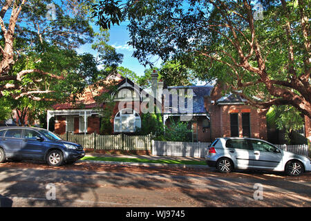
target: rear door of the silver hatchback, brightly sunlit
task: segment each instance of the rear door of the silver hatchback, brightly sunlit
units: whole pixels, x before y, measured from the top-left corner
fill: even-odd
[[[234,158],[235,166],[238,169],[247,169],[253,166],[254,151],[245,139],[229,139],[226,147]]]

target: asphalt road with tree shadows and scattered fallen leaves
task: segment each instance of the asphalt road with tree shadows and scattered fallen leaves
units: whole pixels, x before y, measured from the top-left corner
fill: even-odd
[[[79,163],[0,166],[1,206],[311,206],[311,175]]]

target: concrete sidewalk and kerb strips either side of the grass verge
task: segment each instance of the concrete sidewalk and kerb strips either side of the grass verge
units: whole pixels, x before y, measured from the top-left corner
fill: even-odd
[[[100,154],[100,153],[86,153],[86,157],[120,157],[120,158],[133,158],[145,160],[193,160],[202,161],[204,158],[197,157],[171,157],[171,156],[158,156],[158,155],[122,155],[122,154]],[[182,167],[182,168],[209,168],[207,165],[196,164],[162,164],[162,163],[142,163],[142,162],[112,162],[112,161],[98,161],[98,160],[80,160],[80,162],[88,162],[95,164],[115,164],[115,165],[131,165],[131,166],[169,166],[169,167]]]

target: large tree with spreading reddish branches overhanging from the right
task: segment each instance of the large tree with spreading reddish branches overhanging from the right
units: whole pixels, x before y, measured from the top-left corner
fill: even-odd
[[[177,59],[249,104],[289,104],[311,117],[310,1],[127,1],[102,7],[106,21],[117,9],[142,63]]]

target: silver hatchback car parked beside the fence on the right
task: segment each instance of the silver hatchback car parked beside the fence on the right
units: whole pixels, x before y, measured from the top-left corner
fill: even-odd
[[[205,161],[221,173],[230,173],[233,169],[256,169],[285,171],[296,176],[311,171],[309,157],[280,150],[269,142],[253,138],[217,138],[209,146]]]

